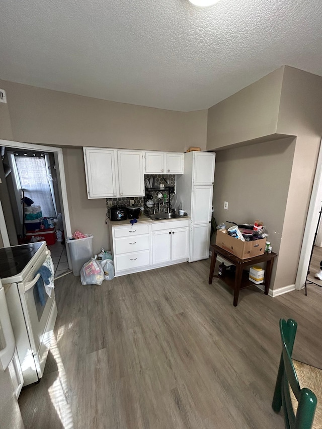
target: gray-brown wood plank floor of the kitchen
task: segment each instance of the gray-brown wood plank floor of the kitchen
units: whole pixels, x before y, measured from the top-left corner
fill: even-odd
[[[82,286],[56,281],[45,375],[23,389],[26,429],[275,429],[278,321],[293,317],[293,357],[321,361],[322,288],[277,298],[208,285],[210,261]]]

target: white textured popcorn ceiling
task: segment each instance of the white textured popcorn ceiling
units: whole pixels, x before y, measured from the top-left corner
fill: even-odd
[[[321,0],[1,0],[0,78],[171,110],[287,64],[322,75]]]

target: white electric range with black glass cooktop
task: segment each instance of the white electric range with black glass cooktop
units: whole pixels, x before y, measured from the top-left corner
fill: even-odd
[[[36,274],[50,251],[46,242],[0,248],[0,278],[16,339],[24,386],[43,376],[57,317],[54,289],[41,305]]]

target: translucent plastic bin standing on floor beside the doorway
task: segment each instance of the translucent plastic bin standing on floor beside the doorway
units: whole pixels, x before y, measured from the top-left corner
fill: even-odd
[[[72,274],[79,276],[83,265],[93,258],[93,234],[85,234],[86,238],[72,240],[67,238],[66,243],[70,253]]]

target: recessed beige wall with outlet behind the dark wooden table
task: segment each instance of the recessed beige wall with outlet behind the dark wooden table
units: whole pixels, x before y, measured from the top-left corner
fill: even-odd
[[[294,149],[295,138],[289,137],[217,152],[213,194],[217,224],[260,219],[273,251],[279,253]],[[276,264],[271,285],[275,271]]]

